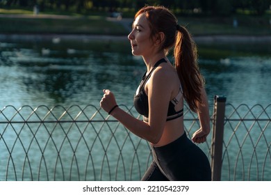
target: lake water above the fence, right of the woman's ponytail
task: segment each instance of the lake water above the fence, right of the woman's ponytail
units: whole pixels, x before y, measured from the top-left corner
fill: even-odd
[[[234,105],[270,104],[270,45],[231,43],[199,48],[209,95],[225,95]]]

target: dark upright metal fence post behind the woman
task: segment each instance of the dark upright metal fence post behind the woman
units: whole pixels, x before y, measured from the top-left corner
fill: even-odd
[[[222,149],[226,98],[215,95],[213,105],[213,137],[211,143],[212,180],[221,180]]]

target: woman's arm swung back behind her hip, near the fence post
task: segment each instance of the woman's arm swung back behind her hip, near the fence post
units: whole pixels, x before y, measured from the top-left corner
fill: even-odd
[[[195,143],[204,143],[211,130],[208,99],[204,88],[201,89],[201,94],[202,104],[199,104],[199,111],[197,113],[199,116],[200,128],[192,136],[192,141]]]

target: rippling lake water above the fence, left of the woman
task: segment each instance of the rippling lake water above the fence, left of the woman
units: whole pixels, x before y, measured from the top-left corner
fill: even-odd
[[[99,104],[103,88],[123,91],[129,97],[145,67],[130,51],[122,54],[114,48],[117,44],[110,43],[112,48],[108,44],[65,42],[64,47],[48,42],[2,42],[0,106]]]

